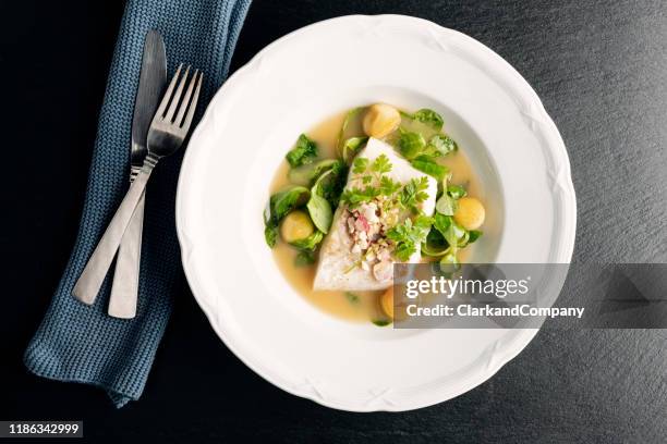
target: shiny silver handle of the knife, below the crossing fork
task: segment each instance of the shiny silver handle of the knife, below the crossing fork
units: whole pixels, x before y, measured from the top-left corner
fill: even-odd
[[[108,309],[113,318],[133,319],[136,316],[145,198],[146,193],[140,199],[118,249]]]

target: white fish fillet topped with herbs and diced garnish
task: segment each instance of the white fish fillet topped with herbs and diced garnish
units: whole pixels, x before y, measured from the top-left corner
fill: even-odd
[[[367,158],[371,162],[380,155],[385,155],[391,161],[393,168],[388,175],[401,184],[410,182],[412,178],[426,176],[428,178],[428,199],[420,205],[420,209],[428,215],[435,209],[435,198],[438,184],[435,178],[414,169],[410,162],[399,157],[393,148],[381,140],[371,138],[366,147],[359,153],[359,157]],[[350,176],[348,184],[350,186]],[[360,267],[351,267],[359,260],[359,255],[352,254],[352,239],[348,234],[345,221],[341,218],[344,206],[340,206],[333,214],[331,230],[325,237],[319,251],[319,261],[315,274],[313,287],[315,289],[339,289],[339,291],[373,291],[384,289],[391,285],[391,281],[378,281],[371,270],[363,270]],[[415,251],[410,257],[410,262],[421,261],[421,251]]]

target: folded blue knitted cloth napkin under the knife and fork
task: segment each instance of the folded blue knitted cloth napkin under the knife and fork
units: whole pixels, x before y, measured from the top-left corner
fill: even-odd
[[[181,279],[174,198],[182,153],[165,159],[146,190],[137,316],[106,313],[111,280],[95,305],[72,288],[126,188],[134,97],[144,37],[165,37],[170,72],[179,62],[204,73],[199,110],[225,79],[251,0],[129,0],[113,54],[78,236],[51,305],[24,356],[34,373],[102,387],[117,407],[137,399],[146,383]],[[193,125],[194,127],[194,125]]]

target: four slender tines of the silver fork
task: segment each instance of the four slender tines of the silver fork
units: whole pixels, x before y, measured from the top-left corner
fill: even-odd
[[[162,101],[155,113],[154,123],[159,121],[187,132],[187,128],[192,123],[194,111],[197,108],[197,99],[199,97],[199,90],[202,89],[203,75],[199,70],[195,70],[189,79],[190,65],[185,67],[183,75],[181,75],[182,70],[183,63],[179,65],[178,70],[173,74],[173,77],[171,78],[169,88],[167,88],[165,97],[162,98]],[[178,87],[174,88],[177,83]],[[186,83],[187,88],[185,88]],[[183,89],[185,89],[185,94],[183,94]]]

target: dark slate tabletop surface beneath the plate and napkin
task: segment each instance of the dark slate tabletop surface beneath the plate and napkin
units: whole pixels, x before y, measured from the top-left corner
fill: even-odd
[[[456,399],[357,415],[288,395],[247,370],[183,284],[141,402],[117,411],[94,388],[27,374],[21,355],[76,234],[122,7],[0,2],[0,419],[83,419],[87,439],[99,442],[665,441],[667,333],[657,330],[543,331],[495,378]],[[303,25],[383,12],[466,33],[533,85],[570,153],[577,259],[667,261],[667,3],[255,0],[233,70]],[[38,112],[45,103],[56,108]]]

